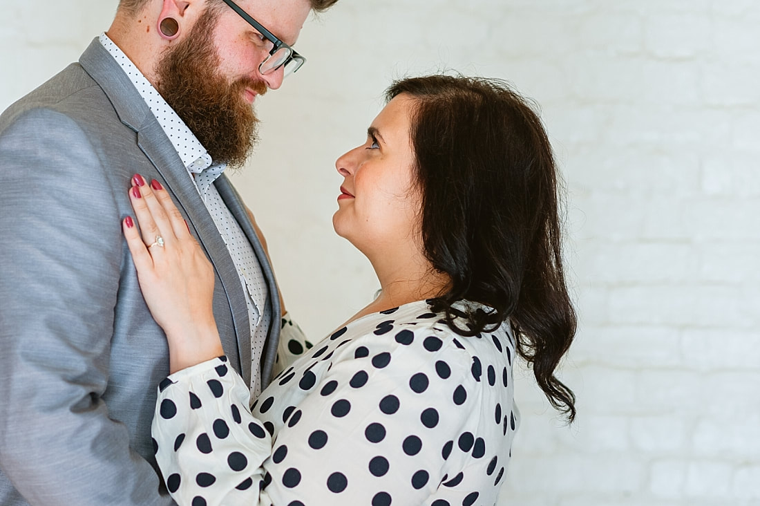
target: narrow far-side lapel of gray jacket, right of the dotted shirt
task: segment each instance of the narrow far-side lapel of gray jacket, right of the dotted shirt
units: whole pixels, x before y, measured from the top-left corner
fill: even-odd
[[[277,282],[274,278],[274,271],[269,263],[267,253],[264,251],[264,247],[261,245],[261,241],[258,240],[253,224],[248,217],[248,212],[245,211],[245,205],[242,204],[239,194],[233,187],[230,180],[222,174],[215,182],[217,191],[222,197],[222,200],[226,204],[230,212],[237,220],[240,228],[242,228],[245,237],[248,237],[253,250],[258,258],[258,263],[261,265],[261,272],[264,274],[264,279],[267,282],[269,288],[269,300],[268,306],[271,307],[272,318],[271,324],[267,329],[267,340],[264,345],[264,351],[261,353],[261,390],[266,388],[271,380],[272,369],[274,368],[274,361],[277,358],[277,342],[280,339],[280,319],[282,313],[280,311],[280,292],[277,289]]]

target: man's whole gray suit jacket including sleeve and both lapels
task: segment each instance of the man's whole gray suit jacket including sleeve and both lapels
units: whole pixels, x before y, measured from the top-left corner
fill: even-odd
[[[79,63],[0,116],[0,504],[173,504],[154,470],[166,339],[144,303],[124,238],[130,179],[171,193],[216,272],[214,314],[249,381],[249,315],[233,261],[154,115],[97,40]],[[274,276],[226,177],[215,183],[249,237],[271,313]]]

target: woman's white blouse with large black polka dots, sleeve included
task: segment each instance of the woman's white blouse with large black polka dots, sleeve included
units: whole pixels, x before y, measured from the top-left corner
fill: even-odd
[[[181,505],[495,504],[519,423],[514,358],[508,323],[462,337],[426,301],[337,330],[250,411],[215,358],[161,383],[157,462]]]

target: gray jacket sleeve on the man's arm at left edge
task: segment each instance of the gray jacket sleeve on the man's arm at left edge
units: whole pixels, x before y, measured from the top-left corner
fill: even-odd
[[[0,467],[30,504],[172,504],[101,398],[131,268],[101,159],[52,110],[0,134]]]

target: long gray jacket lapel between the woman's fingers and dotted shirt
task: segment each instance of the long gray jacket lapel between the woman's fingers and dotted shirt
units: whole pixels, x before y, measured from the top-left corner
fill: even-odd
[[[251,349],[248,307],[239,276],[230,253],[226,248],[214,219],[198,194],[185,165],[174,146],[169,142],[157,119],[150,112],[144,100],[131,84],[128,77],[95,39],[83,53],[80,63],[85,71],[100,84],[111,100],[122,123],[137,132],[138,146],[163,177],[166,189],[174,197],[174,202],[185,216],[188,225],[214,269],[217,272],[223,295],[217,288],[214,297],[214,313],[232,313],[232,324],[228,318],[218,318],[220,336],[225,350],[238,352],[238,368],[246,383],[251,380]],[[125,182],[126,184],[126,182]],[[126,190],[125,186],[125,190]]]

